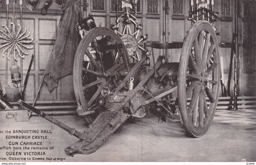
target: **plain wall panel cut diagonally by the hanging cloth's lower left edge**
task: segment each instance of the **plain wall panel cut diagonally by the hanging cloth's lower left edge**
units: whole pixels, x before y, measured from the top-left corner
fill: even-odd
[[[38,44],[38,65],[39,70],[45,70],[51,55],[53,44]]]

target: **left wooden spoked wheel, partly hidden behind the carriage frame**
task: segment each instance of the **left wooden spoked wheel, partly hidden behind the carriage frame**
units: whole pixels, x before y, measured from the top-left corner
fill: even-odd
[[[98,43],[105,44],[105,51],[99,52]],[[82,108],[83,112],[97,109],[95,100],[109,85],[106,71],[117,63],[125,62],[125,58],[122,57],[126,56],[126,59],[129,59],[126,53],[122,53],[125,51],[124,48],[114,49],[114,44],[120,45],[123,42],[114,31],[99,27],[84,35],[78,45],[73,67],[73,84],[78,108]],[[106,47],[111,45],[114,46],[106,50]],[[81,113],[81,110],[79,111]],[[96,116],[97,114],[92,114],[84,117],[87,122],[92,123]]]

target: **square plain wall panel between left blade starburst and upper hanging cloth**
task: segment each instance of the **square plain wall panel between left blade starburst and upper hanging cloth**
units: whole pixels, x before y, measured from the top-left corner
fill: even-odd
[[[57,20],[39,19],[38,32],[39,40],[55,40],[57,37]]]

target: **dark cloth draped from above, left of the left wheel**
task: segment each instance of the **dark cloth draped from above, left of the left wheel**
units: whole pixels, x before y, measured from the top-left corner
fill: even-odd
[[[44,72],[44,82],[49,91],[58,86],[58,80],[73,73],[73,63],[80,36],[76,32],[77,22],[81,22],[80,0],[70,0],[62,17],[60,30]]]

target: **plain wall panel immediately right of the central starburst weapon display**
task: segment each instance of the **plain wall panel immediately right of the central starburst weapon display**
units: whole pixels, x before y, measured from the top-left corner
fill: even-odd
[[[143,25],[143,27],[146,29],[146,32],[148,33],[147,41],[160,42],[160,20],[147,18],[146,23],[147,24]]]

